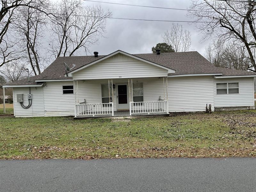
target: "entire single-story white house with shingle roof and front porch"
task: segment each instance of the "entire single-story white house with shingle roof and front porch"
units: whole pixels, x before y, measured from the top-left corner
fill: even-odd
[[[253,108],[256,73],[215,67],[198,52],[158,53],[59,57],[42,74],[3,87],[13,87],[16,117]]]

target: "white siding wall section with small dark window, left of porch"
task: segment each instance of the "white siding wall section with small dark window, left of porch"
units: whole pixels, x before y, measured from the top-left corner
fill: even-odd
[[[46,82],[44,87],[45,116],[73,116],[75,94],[63,94],[62,86],[72,85],[73,81]]]

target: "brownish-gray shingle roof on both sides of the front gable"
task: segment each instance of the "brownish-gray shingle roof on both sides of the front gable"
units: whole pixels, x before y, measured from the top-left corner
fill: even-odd
[[[256,75],[256,73],[248,71],[240,71],[228,68],[220,68],[213,66],[198,52],[171,52],[161,53],[146,53],[146,54],[133,54],[145,60],[163,65],[167,68],[175,70],[171,75],[184,75],[184,74],[207,74],[207,73],[222,73],[223,76],[239,76],[239,75]],[[71,68],[73,64],[76,65],[75,70],[92,61],[98,60],[105,55],[94,56],[72,56],[72,57],[58,57],[47,67],[40,75],[27,79],[9,83],[8,85],[22,85],[22,84],[37,84],[35,80],[52,80],[52,79],[72,79],[72,77],[65,77],[65,67],[63,62],[67,63]]]

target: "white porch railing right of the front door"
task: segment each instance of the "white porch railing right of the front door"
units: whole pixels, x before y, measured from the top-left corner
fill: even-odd
[[[148,115],[155,113],[168,113],[168,102],[166,100],[130,102],[130,115],[142,113]]]

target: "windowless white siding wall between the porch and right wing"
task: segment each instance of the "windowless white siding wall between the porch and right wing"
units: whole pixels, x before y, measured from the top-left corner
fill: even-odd
[[[206,104],[214,110],[213,77],[168,78],[168,103],[171,112],[205,111]]]

